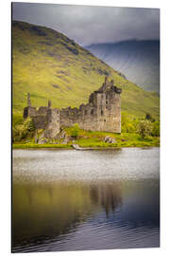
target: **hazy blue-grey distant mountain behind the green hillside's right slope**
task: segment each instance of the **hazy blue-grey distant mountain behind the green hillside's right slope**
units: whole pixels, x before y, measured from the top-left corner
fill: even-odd
[[[129,81],[148,91],[160,91],[160,41],[129,40],[86,48]]]

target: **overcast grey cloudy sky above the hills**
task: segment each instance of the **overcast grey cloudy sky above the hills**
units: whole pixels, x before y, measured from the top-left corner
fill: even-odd
[[[81,46],[160,39],[160,10],[13,3],[12,19],[51,27]]]

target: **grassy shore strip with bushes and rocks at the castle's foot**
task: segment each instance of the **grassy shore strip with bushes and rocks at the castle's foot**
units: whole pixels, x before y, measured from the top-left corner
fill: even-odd
[[[36,137],[31,119],[26,119],[22,125],[16,124],[14,149],[26,148],[65,148],[72,149],[73,144],[82,148],[120,148],[120,147],[159,147],[160,146],[160,123],[148,119],[133,119],[129,121],[122,115],[121,134],[108,132],[85,131],[77,124],[73,127],[63,128],[56,138],[47,139],[42,137],[42,130],[38,130]],[[19,119],[18,119],[19,121]],[[20,119],[22,121],[22,119]],[[21,129],[16,131],[17,127]],[[35,143],[36,140],[36,143]]]

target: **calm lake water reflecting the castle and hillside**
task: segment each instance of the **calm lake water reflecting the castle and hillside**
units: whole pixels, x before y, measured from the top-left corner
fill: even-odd
[[[160,150],[14,150],[12,251],[160,246]]]

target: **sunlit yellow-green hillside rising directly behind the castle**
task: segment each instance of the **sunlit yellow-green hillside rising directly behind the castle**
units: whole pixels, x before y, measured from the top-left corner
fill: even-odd
[[[13,113],[23,112],[27,92],[35,106],[46,105],[47,99],[59,108],[86,103],[107,74],[123,89],[123,112],[136,117],[147,112],[159,118],[160,99],[156,93],[127,81],[91,52],[53,29],[13,22]]]

